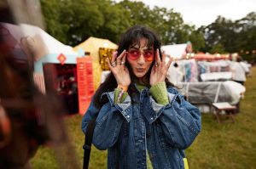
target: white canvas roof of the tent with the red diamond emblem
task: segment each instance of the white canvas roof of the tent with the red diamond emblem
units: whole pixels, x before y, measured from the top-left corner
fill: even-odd
[[[32,56],[34,82],[42,93],[45,93],[44,63],[60,63],[57,57],[63,54],[66,57],[65,63],[76,64],[78,54],[73,51],[73,48],[59,42],[41,28],[34,25],[12,25],[8,23],[1,23],[1,26],[9,31],[9,36],[12,37],[15,48],[21,48],[20,51],[23,51],[27,56]]]

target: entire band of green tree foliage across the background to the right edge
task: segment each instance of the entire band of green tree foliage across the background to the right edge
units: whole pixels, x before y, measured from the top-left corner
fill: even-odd
[[[190,41],[195,52],[249,51],[252,55],[256,51],[255,12],[235,21],[218,16],[212,24],[195,29],[173,9],[149,8],[137,1],[41,0],[41,6],[49,34],[71,46],[88,37],[119,42],[119,36],[131,25],[147,25],[160,35],[163,45]]]

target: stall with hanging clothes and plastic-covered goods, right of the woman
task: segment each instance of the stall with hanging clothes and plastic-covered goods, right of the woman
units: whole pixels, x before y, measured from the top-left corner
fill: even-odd
[[[234,72],[231,69],[235,62],[215,60],[212,62],[195,59],[174,60],[167,72],[167,78],[192,104],[209,105],[216,102],[227,102],[238,105],[245,87],[233,82]]]

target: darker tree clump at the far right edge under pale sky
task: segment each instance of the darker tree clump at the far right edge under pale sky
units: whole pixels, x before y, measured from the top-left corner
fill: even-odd
[[[255,12],[235,21],[218,16],[212,24],[202,26],[198,31],[203,32],[205,36],[204,51],[255,55],[255,52],[253,53],[253,50],[256,50]]]

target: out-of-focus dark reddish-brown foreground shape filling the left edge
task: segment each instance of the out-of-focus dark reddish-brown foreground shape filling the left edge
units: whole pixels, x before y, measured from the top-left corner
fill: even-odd
[[[61,168],[79,168],[53,82],[47,79],[46,94],[34,84],[35,56],[22,42],[24,31],[17,25],[25,23],[44,29],[40,3],[1,1],[0,21],[0,168],[31,168],[29,161],[38,146],[46,144],[55,149]],[[49,69],[45,76],[54,72]]]

